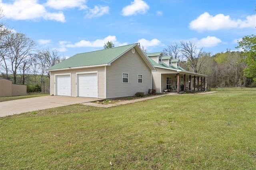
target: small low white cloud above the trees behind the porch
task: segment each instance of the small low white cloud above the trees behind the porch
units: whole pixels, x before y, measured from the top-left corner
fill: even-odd
[[[194,39],[191,39],[190,41],[195,43],[198,48],[214,47],[214,46],[218,45],[218,43],[222,42],[220,39],[218,39],[217,37],[213,37],[213,36],[207,36],[202,39],[194,38]]]

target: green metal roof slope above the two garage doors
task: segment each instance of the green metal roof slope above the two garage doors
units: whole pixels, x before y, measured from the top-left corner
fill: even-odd
[[[47,70],[58,70],[65,68],[74,67],[85,67],[85,66],[100,66],[112,63],[115,59],[126,53],[132,47],[135,47],[137,43],[124,45],[120,47],[114,47],[111,49],[103,49],[98,51],[92,51],[87,53],[76,54],[50,68]]]

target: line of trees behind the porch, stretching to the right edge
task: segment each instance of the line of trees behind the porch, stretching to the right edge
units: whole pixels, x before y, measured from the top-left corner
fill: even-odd
[[[180,41],[163,49],[166,56],[180,60],[180,66],[188,71],[207,75],[212,87],[247,87],[256,82],[256,36],[243,37],[238,42],[240,51],[221,52],[212,55],[198,49],[192,42]]]

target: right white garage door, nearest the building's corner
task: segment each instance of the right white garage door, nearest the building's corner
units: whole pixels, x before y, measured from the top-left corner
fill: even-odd
[[[78,96],[98,98],[97,73],[78,74]]]

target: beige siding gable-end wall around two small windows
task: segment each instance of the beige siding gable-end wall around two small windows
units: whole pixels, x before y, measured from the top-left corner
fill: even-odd
[[[136,92],[147,94],[151,88],[151,70],[136,50],[129,50],[106,66],[106,72],[106,98],[134,96]],[[122,73],[128,73],[128,83],[122,82]],[[143,83],[138,83],[138,74],[142,74]]]

